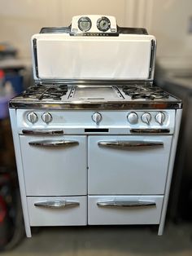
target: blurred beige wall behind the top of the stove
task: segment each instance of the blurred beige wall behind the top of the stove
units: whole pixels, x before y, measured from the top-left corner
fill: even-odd
[[[68,25],[72,15],[107,14],[155,34],[165,64],[192,63],[191,0],[0,0],[0,7],[0,41],[18,47],[22,59],[30,59],[30,38],[41,27]]]

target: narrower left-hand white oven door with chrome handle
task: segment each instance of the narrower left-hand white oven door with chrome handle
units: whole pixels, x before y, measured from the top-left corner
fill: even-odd
[[[87,194],[86,136],[20,135],[27,196]]]

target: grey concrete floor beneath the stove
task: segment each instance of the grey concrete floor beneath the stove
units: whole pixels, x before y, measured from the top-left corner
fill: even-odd
[[[192,256],[192,223],[149,227],[44,227],[2,256]]]

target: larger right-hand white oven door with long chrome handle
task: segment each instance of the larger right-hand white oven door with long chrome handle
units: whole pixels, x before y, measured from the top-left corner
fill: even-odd
[[[164,194],[172,136],[89,136],[88,192]]]

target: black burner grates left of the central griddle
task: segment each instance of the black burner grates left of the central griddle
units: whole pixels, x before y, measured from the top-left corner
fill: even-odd
[[[61,100],[63,95],[66,95],[68,92],[67,85],[56,85],[56,86],[31,86],[27,90],[24,90],[24,98],[33,98],[33,99],[56,99]]]

